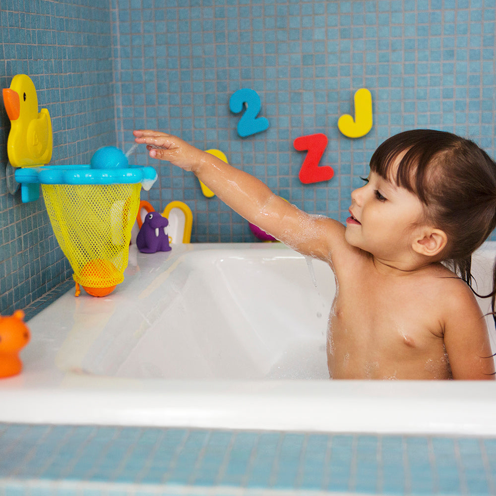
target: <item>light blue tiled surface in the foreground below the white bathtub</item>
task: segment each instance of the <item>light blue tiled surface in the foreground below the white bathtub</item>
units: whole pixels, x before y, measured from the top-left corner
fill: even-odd
[[[0,424],[0,496],[495,495],[496,439]]]

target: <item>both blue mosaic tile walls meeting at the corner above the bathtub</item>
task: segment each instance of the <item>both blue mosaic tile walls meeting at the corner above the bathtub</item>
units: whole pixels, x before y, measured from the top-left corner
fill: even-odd
[[[344,220],[376,146],[413,127],[468,136],[495,150],[494,2],[488,0],[0,0],[0,83],[28,73],[54,126],[54,164],[87,162],[102,145],[127,150],[131,130],[177,133],[217,148],[305,210]],[[263,132],[241,138],[229,98],[261,99]],[[338,118],[371,91],[372,130],[351,139]],[[8,118],[0,105],[0,313],[24,308],[71,275],[43,200],[5,185]],[[325,134],[326,182],[298,179],[295,138]],[[134,154],[148,164],[144,150]],[[156,209],[183,200],[193,242],[253,241],[247,222],[201,193],[190,174],[154,162],[143,194]],[[494,238],[494,236],[493,236]]]

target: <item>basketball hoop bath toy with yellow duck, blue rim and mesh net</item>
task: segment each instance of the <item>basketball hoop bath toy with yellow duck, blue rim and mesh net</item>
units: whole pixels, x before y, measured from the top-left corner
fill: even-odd
[[[34,96],[28,102],[29,113],[23,114],[27,87]],[[155,170],[129,165],[127,156],[115,147],[97,150],[90,164],[44,166],[51,156],[52,127],[48,110],[38,113],[31,79],[24,74],[14,76],[3,99],[11,121],[7,153],[11,165],[17,167],[15,179],[21,184],[22,201],[37,199],[41,185],[55,236],[74,271],[76,296],[79,285],[92,296],[110,294],[124,280],[141,186],[150,189],[157,179]],[[37,153],[40,135],[50,153]],[[28,159],[21,156],[19,147],[29,151]]]

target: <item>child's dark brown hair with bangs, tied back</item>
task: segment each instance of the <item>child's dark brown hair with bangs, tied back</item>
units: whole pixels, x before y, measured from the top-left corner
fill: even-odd
[[[402,153],[395,169],[393,163]],[[470,272],[472,253],[496,227],[495,161],[473,141],[456,134],[416,129],[384,141],[370,166],[417,195],[426,207],[427,219],[447,235],[443,261],[476,293]],[[492,297],[493,312],[495,288],[496,267],[493,292],[484,296]]]

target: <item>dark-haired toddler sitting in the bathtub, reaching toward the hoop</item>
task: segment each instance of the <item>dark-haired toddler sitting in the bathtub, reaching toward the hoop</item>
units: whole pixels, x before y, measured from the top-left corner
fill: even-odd
[[[473,142],[426,129],[387,139],[343,226],[176,136],[134,136],[150,157],[192,171],[249,222],[331,266],[332,378],[494,378],[470,261],[496,225],[496,164]]]

